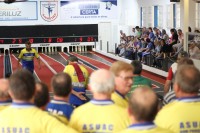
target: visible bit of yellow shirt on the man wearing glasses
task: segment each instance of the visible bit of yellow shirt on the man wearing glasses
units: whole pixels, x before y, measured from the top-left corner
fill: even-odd
[[[123,108],[128,108],[128,98],[126,96],[120,95],[118,92],[113,92],[112,93],[112,98],[111,98],[115,104],[117,104],[120,107]]]

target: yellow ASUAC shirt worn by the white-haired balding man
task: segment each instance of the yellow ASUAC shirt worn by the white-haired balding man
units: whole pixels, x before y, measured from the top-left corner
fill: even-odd
[[[91,100],[76,108],[69,125],[82,133],[111,133],[128,127],[130,120],[125,109],[110,100]]]

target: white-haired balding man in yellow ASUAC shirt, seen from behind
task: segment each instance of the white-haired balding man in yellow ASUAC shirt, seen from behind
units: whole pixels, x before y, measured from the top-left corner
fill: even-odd
[[[81,133],[113,133],[125,129],[130,119],[126,110],[111,100],[114,86],[112,72],[94,71],[89,82],[93,99],[73,111],[69,126]]]

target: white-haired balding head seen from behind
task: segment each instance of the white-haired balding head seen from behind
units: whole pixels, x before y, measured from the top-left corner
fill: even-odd
[[[93,92],[111,94],[115,88],[114,74],[105,69],[94,71],[90,76],[89,86]]]

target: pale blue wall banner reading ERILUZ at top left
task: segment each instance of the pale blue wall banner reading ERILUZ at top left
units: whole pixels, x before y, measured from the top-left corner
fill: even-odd
[[[0,3],[0,21],[37,20],[37,2]]]

